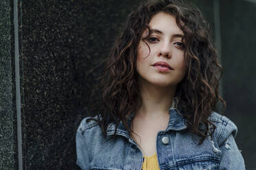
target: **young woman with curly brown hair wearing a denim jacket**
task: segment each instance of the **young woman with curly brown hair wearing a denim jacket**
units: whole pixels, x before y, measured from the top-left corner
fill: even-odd
[[[237,127],[213,112],[222,69],[197,8],[142,3],[106,64],[100,112],[76,134],[81,169],[245,169]]]

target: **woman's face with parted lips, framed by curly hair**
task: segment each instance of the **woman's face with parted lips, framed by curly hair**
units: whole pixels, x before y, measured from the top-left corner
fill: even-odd
[[[140,40],[137,53],[136,69],[140,82],[156,86],[177,86],[186,74],[182,30],[175,17],[164,12],[155,14],[149,22],[151,35],[145,42]],[[142,38],[147,37],[147,30]],[[150,48],[150,52],[149,52]]]

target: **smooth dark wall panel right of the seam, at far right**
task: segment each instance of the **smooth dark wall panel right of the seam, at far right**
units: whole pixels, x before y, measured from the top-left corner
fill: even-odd
[[[226,114],[238,127],[246,169],[256,168],[256,3],[220,1]]]

